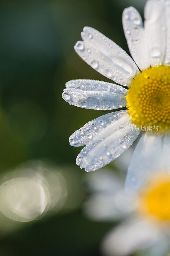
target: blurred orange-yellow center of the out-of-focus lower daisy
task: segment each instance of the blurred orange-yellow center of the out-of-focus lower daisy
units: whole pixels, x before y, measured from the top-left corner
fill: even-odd
[[[140,212],[170,221],[170,176],[157,177],[139,197]]]

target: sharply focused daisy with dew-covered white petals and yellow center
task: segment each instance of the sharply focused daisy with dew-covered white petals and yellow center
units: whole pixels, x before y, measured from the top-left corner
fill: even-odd
[[[78,79],[66,83],[63,99],[81,108],[110,110],[70,136],[71,146],[84,146],[76,164],[97,170],[120,156],[143,132],[129,177],[144,165],[150,171],[162,145],[170,147],[170,1],[149,0],[144,25],[134,7],[123,11],[122,23],[131,57],[94,28],[85,27],[83,41],[74,46],[78,55],[100,74],[117,84]],[[118,85],[120,84],[120,85]],[[122,87],[127,86],[129,90]],[[163,138],[163,143],[161,141]]]

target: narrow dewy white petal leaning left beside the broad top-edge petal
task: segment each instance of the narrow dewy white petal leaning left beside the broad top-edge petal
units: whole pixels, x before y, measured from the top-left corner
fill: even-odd
[[[124,9],[122,23],[129,51],[137,66],[141,70],[150,68],[150,57],[146,37],[144,36],[144,26],[139,12],[132,6]]]

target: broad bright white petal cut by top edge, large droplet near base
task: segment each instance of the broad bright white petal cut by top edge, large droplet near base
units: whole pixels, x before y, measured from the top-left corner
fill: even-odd
[[[164,63],[166,52],[166,17],[164,0],[149,0],[144,9],[144,29],[151,66]]]

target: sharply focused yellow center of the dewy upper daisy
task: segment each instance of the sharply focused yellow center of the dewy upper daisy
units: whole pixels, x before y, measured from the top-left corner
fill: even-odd
[[[133,78],[127,108],[133,124],[143,131],[170,133],[170,67],[145,69]]]

